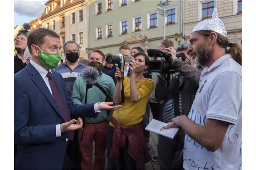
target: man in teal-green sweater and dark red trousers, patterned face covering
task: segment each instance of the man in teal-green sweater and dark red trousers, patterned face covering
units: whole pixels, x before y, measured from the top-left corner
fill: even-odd
[[[102,73],[105,55],[100,50],[94,50],[89,54],[89,66],[94,66],[99,71],[97,83],[112,98],[115,91],[113,79]],[[83,76],[83,72],[82,72]],[[86,97],[86,82],[82,76],[78,76],[73,86],[72,100],[75,104],[84,104]],[[87,103],[105,101],[106,96],[95,85],[88,89]],[[79,145],[82,152],[82,169],[104,169],[106,152],[107,127],[112,112],[109,114],[102,110],[97,118],[86,118],[84,128],[78,129]],[[95,161],[92,163],[93,141],[95,142]]]

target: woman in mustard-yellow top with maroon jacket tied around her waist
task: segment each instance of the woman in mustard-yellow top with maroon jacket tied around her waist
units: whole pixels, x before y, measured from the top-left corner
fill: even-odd
[[[146,79],[143,72],[148,68],[149,57],[136,53],[129,63],[130,77],[124,77],[124,98],[121,101],[122,71],[117,68],[116,89],[113,102],[122,107],[113,112],[107,132],[107,169],[145,169],[151,160],[143,135],[141,121],[147,101],[153,90],[153,81]]]

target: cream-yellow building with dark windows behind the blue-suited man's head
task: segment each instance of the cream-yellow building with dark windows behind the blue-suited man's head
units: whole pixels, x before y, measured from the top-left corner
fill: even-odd
[[[49,0],[41,17],[42,27],[55,31],[61,37],[61,44],[73,40],[80,46],[80,58],[88,58],[87,1]],[[63,48],[62,60],[65,61]]]

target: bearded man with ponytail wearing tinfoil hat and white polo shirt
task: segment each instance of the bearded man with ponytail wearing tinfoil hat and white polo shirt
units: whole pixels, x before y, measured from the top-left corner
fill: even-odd
[[[228,42],[217,9],[195,26],[189,41],[188,52],[206,68],[188,117],[173,118],[165,128],[186,133],[184,169],[241,169],[241,48]]]

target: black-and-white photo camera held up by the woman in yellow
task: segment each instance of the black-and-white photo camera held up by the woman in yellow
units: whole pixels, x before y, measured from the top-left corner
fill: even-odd
[[[121,70],[121,64],[131,62],[132,56],[123,56],[122,54],[112,55],[109,54],[106,56],[106,62],[108,64],[118,64],[118,68]]]

